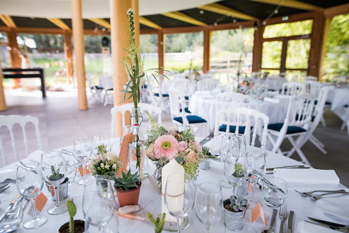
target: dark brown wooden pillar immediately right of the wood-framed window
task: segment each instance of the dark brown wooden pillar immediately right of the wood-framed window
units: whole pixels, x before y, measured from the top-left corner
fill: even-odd
[[[313,28],[311,32],[311,44],[309,52],[309,68],[308,74],[311,76],[318,77],[319,79],[319,69],[320,69],[320,57],[322,50],[322,39],[324,35],[325,27],[325,16],[324,12],[316,12],[313,19]]]

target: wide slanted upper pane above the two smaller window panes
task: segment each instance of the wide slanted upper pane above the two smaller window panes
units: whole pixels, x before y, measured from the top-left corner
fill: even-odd
[[[312,25],[313,20],[268,25],[265,27],[263,38],[308,35],[311,33]]]

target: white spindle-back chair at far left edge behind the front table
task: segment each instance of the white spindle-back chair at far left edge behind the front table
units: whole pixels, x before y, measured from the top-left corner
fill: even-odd
[[[10,138],[11,138],[11,144],[13,153],[15,155],[16,160],[19,160],[18,152],[17,152],[17,146],[16,146],[16,140],[14,136],[13,127],[14,125],[18,124],[22,127],[22,134],[23,134],[23,141],[24,141],[24,148],[25,153],[27,153],[27,156],[29,155],[29,146],[28,146],[28,137],[27,137],[27,131],[25,130],[25,125],[27,123],[33,123],[35,127],[35,134],[36,134],[36,140],[38,142],[39,150],[43,150],[43,143],[41,139],[40,129],[39,129],[39,119],[37,117],[32,117],[30,115],[28,116],[21,116],[21,115],[0,115],[0,129],[2,126],[5,126],[9,130]],[[0,152],[2,156],[2,160],[7,165],[7,159],[5,155],[5,148],[3,146],[1,137],[0,137]]]

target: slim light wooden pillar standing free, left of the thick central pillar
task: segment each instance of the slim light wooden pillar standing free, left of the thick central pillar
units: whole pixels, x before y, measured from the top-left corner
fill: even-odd
[[[74,52],[76,59],[77,91],[79,95],[79,110],[88,110],[86,97],[85,47],[84,28],[82,21],[81,0],[72,1],[72,29]]]

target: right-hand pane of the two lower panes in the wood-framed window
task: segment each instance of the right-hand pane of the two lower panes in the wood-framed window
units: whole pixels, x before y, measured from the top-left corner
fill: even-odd
[[[287,43],[286,68],[307,69],[310,39],[289,40]]]

